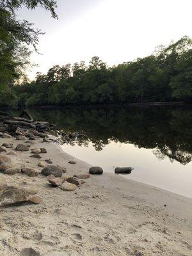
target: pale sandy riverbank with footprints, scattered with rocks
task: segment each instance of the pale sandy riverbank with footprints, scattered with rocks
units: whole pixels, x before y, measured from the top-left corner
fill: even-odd
[[[13,143],[13,148],[22,143],[15,138],[0,142]],[[67,169],[63,176],[88,173],[90,164],[66,154],[60,145],[42,139],[31,145],[40,147],[47,150],[42,159],[29,157],[29,152],[10,157],[38,172],[40,160],[51,159]],[[1,175],[8,186],[36,186],[42,202],[0,208],[0,255],[191,255],[189,198],[109,173],[92,175],[75,191],[54,188],[41,174]]]

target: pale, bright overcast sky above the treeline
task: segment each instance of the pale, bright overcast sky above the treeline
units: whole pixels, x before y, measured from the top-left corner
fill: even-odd
[[[184,35],[192,37],[191,0],[58,0],[58,20],[43,8],[22,8],[17,19],[35,23],[40,36],[38,51],[28,70],[45,74],[53,65],[102,61],[118,65],[152,54],[157,45],[168,45]]]

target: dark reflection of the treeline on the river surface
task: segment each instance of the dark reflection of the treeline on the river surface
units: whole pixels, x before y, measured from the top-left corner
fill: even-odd
[[[191,106],[113,107],[89,109],[30,109],[38,120],[56,124],[54,134],[60,134],[62,143],[95,150],[106,145],[131,143],[138,148],[153,149],[158,159],[188,164],[192,158]],[[64,132],[64,133],[63,133]],[[81,136],[70,137],[72,132]]]

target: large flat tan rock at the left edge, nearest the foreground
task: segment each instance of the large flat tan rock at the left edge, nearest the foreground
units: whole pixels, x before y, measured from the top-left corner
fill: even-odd
[[[38,193],[38,190],[33,187],[13,188],[0,191],[0,206],[28,202],[31,195]]]

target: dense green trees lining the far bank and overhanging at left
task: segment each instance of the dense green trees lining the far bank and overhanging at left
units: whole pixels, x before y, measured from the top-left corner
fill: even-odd
[[[15,10],[21,4],[29,9],[41,4],[57,18],[56,3],[47,0],[1,2],[1,107],[192,102],[192,40],[188,36],[168,46],[158,46],[145,58],[108,67],[94,56],[88,65],[84,61],[54,65],[47,74],[38,72],[33,81],[28,81],[26,68],[31,54],[28,46],[32,45],[37,51],[42,31],[33,29],[33,24],[26,20],[17,20]]]

